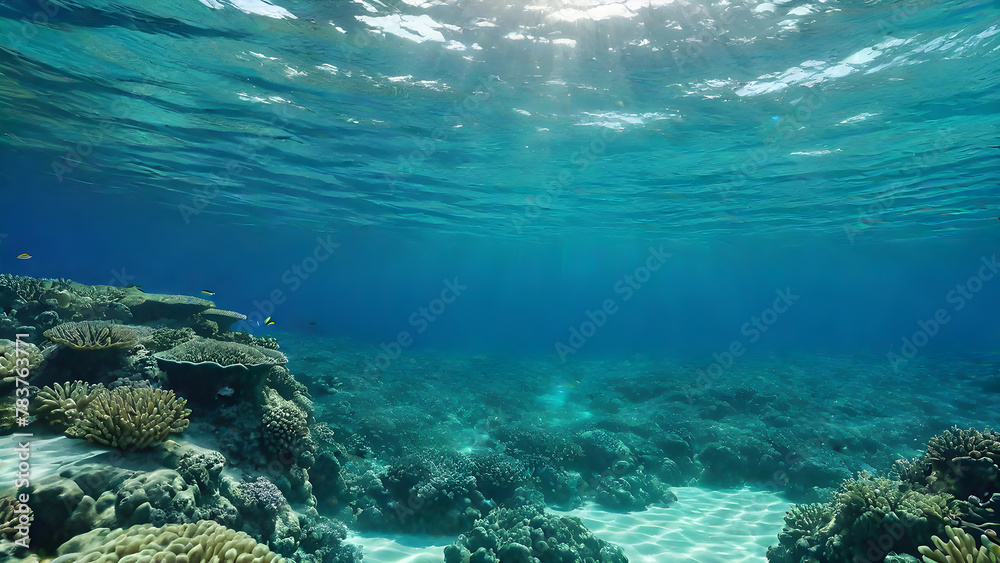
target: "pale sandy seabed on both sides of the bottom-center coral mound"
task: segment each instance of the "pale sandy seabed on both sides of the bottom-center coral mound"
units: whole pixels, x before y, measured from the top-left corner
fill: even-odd
[[[630,563],[764,563],[777,543],[790,503],[760,490],[672,489],[677,502],[628,514],[588,505],[555,514],[576,516],[597,537],[615,543]],[[441,563],[446,538],[353,534],[368,563]]]

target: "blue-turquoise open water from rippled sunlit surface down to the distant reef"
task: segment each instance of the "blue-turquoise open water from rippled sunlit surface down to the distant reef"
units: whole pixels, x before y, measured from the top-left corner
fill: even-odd
[[[568,361],[996,351],[998,15],[5,2],[0,270]]]

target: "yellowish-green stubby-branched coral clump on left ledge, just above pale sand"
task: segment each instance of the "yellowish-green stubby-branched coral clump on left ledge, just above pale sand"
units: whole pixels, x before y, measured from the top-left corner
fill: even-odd
[[[119,387],[77,381],[38,392],[34,412],[49,424],[65,427],[67,436],[122,450],[162,442],[188,426],[186,401],[173,391]]]

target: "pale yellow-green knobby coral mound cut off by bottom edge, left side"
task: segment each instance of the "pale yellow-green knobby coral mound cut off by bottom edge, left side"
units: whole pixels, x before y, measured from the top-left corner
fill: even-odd
[[[52,563],[284,563],[243,532],[211,520],[194,524],[99,528],[59,547]]]

